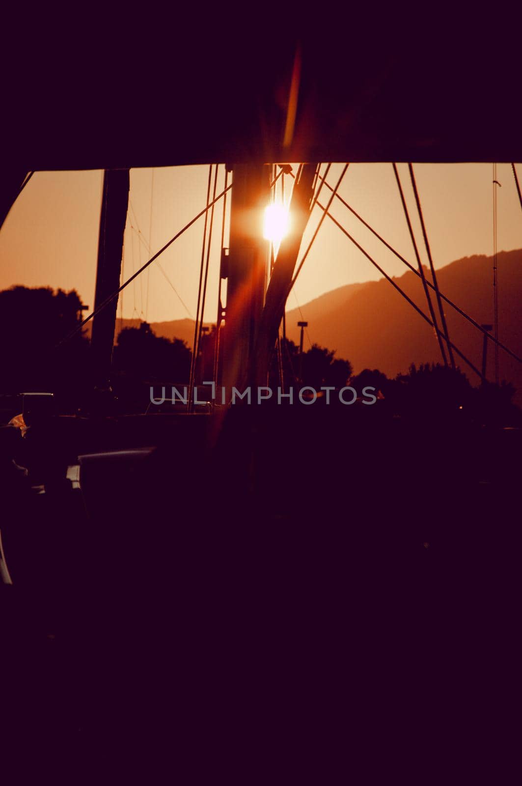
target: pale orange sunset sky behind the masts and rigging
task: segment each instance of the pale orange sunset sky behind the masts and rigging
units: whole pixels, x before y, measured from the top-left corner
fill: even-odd
[[[328,176],[330,185],[335,185],[341,169],[341,164],[332,165]],[[399,172],[410,215],[416,219],[417,242],[422,248],[406,164],[399,165]],[[417,164],[415,173],[435,266],[447,265],[466,255],[491,255],[491,164]],[[16,284],[75,288],[84,303],[94,305],[102,174],[101,171],[37,172],[31,178],[0,232],[0,288]],[[518,174],[520,180],[522,165]],[[498,164],[497,177],[502,184],[498,188],[500,252],[522,247],[522,213],[510,165]],[[223,178],[224,167],[220,167],[218,191]],[[149,258],[145,245],[150,244],[156,252],[204,208],[207,180],[206,165],[131,171],[131,207],[123,258],[125,278]],[[286,194],[290,187],[291,178],[287,177]],[[340,194],[406,259],[415,263],[391,164],[352,163],[340,186]],[[321,196],[323,204],[327,198],[325,189]],[[334,204],[332,211],[388,274],[403,274],[406,270],[403,264],[381,247],[341,204]],[[302,249],[320,215],[316,208]],[[207,321],[215,321],[221,219],[219,204],[215,211]],[[196,222],[160,257],[160,264],[186,307],[153,263],[149,273],[142,274],[123,292],[124,317],[166,321],[194,316],[203,224],[204,219]],[[427,263],[425,255],[423,261]],[[295,308],[297,303],[302,305],[330,289],[378,277],[380,274],[366,258],[326,218],[295,292],[289,297],[288,308]],[[472,286],[472,281],[469,285]],[[499,270],[499,286],[502,286],[502,270]],[[120,301],[118,314],[121,313]],[[313,340],[313,325],[310,334]]]

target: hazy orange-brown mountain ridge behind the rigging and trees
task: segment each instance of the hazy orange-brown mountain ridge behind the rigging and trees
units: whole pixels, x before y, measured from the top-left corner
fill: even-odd
[[[493,324],[493,260],[475,255],[458,259],[436,271],[440,291],[479,324]],[[428,281],[432,281],[425,268]],[[425,314],[428,306],[420,277],[411,270],[394,280]],[[436,309],[435,292],[430,291]],[[522,356],[522,249],[498,254],[498,335],[519,357]],[[445,303],[450,340],[477,369],[482,365],[483,335]],[[297,322],[308,322],[310,340],[336,350],[337,358],[347,358],[354,373],[380,369],[387,376],[407,373],[410,364],[441,362],[439,343],[432,328],[406,302],[392,285],[378,281],[349,284],[305,303],[286,313],[289,339],[299,343]],[[116,332],[138,327],[140,320],[116,322]],[[194,323],[191,319],[151,322],[156,336],[186,341],[192,347]],[[307,347],[305,346],[305,349]],[[517,389],[515,400],[522,403],[522,364],[499,350],[499,376]],[[455,361],[472,384],[479,378],[455,355]],[[494,344],[487,347],[487,378],[494,380]]]

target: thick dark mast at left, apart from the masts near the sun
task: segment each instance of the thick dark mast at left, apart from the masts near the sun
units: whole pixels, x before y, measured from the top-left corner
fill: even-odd
[[[127,222],[129,201],[129,170],[106,169],[103,177],[100,235],[96,270],[94,310],[119,288],[123,233]],[[111,384],[112,346],[116,330],[118,299],[113,299],[93,318],[91,351],[93,355],[94,386],[107,390]]]

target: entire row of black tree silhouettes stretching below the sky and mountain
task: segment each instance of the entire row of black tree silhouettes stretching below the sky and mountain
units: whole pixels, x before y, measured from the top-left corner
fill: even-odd
[[[93,384],[90,347],[81,331],[61,341],[79,327],[81,307],[74,290],[16,286],[0,292],[0,392],[52,391],[61,411],[74,410]],[[215,336],[215,326],[201,336],[197,384],[214,377]],[[187,384],[190,362],[191,350],[184,341],[156,336],[146,322],[140,328],[124,329],[114,351],[117,392],[130,392],[132,406],[141,409],[144,384]],[[274,351],[270,366],[274,389],[280,384],[280,362],[285,387],[300,386],[299,348],[291,340],[281,341],[280,354]],[[302,384],[316,390],[344,387],[349,380],[359,395],[364,387],[375,387],[384,399],[377,406],[401,417],[522,425],[520,410],[513,405],[515,389],[505,382],[472,387],[460,369],[440,364],[411,365],[395,380],[378,369],[351,373],[351,363],[335,358],[333,350],[314,344],[303,352]],[[148,401],[148,395],[145,398]]]

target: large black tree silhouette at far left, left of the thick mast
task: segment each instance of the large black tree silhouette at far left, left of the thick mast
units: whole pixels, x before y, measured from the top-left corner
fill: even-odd
[[[89,342],[75,290],[14,286],[0,292],[0,391],[51,391],[62,401],[79,394],[90,377]]]

